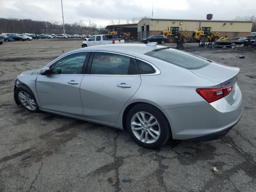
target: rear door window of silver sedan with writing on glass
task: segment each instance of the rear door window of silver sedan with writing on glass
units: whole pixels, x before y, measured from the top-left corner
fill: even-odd
[[[139,72],[133,58],[113,53],[96,52],[90,74],[135,75]]]

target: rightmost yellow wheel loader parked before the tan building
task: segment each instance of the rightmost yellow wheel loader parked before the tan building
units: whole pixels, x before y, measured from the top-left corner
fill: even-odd
[[[211,32],[211,27],[202,27],[202,30],[194,31],[192,34],[192,38],[196,41],[206,42],[207,40],[209,42],[215,42],[220,37],[219,32]]]

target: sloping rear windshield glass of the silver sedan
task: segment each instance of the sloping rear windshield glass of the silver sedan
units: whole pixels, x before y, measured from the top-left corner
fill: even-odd
[[[168,48],[153,50],[145,53],[145,55],[169,62],[186,69],[200,69],[210,64],[210,61],[206,59],[191,55],[186,52]]]

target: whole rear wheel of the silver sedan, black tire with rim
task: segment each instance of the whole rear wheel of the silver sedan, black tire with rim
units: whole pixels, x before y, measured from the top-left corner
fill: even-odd
[[[142,120],[141,113],[145,114],[145,120],[149,120],[150,116],[152,117],[152,120],[150,122],[144,122]],[[137,118],[136,114],[138,114],[140,120]],[[132,125],[132,122],[134,122],[134,124],[137,123],[138,125]],[[144,126],[142,126],[141,122],[143,122]],[[158,123],[156,124],[155,122]],[[153,123],[155,125],[151,127],[150,124]],[[138,104],[131,108],[131,110],[127,114],[126,128],[133,140],[137,144],[145,148],[160,148],[171,137],[171,128],[166,117],[158,108],[149,104]],[[134,130],[136,128],[138,130]],[[139,130],[140,128],[141,130]],[[158,133],[159,135],[155,133]],[[140,140],[141,135],[142,139]],[[148,135],[148,140],[146,139],[146,135]],[[151,135],[153,135],[155,139]]]

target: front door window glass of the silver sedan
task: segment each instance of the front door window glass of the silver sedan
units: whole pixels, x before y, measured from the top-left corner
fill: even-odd
[[[70,54],[51,66],[52,74],[82,74],[87,52]]]

